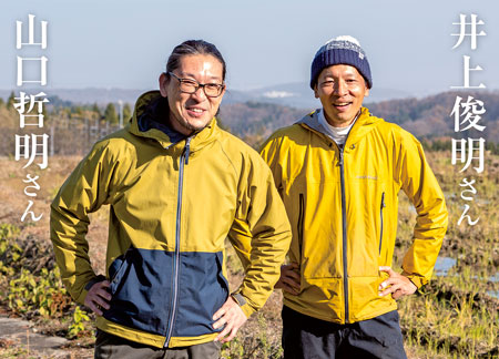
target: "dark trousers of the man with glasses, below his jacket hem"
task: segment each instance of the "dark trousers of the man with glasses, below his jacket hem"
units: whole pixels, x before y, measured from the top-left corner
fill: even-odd
[[[222,345],[208,341],[201,345],[161,349],[130,341],[98,330],[95,359],[218,359]]]

